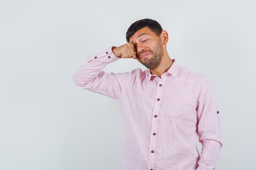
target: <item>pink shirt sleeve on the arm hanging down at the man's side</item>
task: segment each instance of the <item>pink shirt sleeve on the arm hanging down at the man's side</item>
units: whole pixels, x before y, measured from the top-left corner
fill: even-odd
[[[208,77],[204,78],[197,104],[198,134],[202,144],[197,170],[214,170],[222,148],[221,112]]]

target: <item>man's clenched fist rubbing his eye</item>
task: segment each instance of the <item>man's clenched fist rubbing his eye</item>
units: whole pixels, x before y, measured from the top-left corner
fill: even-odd
[[[112,51],[117,57],[137,59],[137,50],[131,42],[116,47]]]

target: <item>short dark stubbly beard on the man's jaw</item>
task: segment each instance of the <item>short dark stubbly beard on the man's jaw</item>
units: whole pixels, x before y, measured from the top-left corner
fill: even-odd
[[[147,52],[151,52],[153,56],[151,58],[145,58],[142,60],[140,59],[139,62],[146,66],[146,68],[153,70],[159,66],[164,55],[164,48],[162,46],[161,40],[159,39],[159,41],[157,42],[155,51]]]

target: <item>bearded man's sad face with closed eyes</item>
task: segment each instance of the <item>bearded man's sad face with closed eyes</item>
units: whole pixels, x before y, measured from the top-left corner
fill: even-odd
[[[132,37],[131,42],[137,50],[137,60],[151,70],[159,66],[164,54],[164,47],[159,36],[147,26],[138,30]],[[146,55],[145,57],[143,55]],[[142,57],[142,58],[141,58]]]

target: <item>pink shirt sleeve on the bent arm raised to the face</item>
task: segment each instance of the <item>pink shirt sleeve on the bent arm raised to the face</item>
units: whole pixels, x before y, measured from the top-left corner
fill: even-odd
[[[72,77],[75,84],[86,90],[118,100],[133,71],[125,73],[102,71],[107,64],[121,59],[113,53],[113,48],[116,47],[110,46],[100,53],[90,55],[75,71]]]

